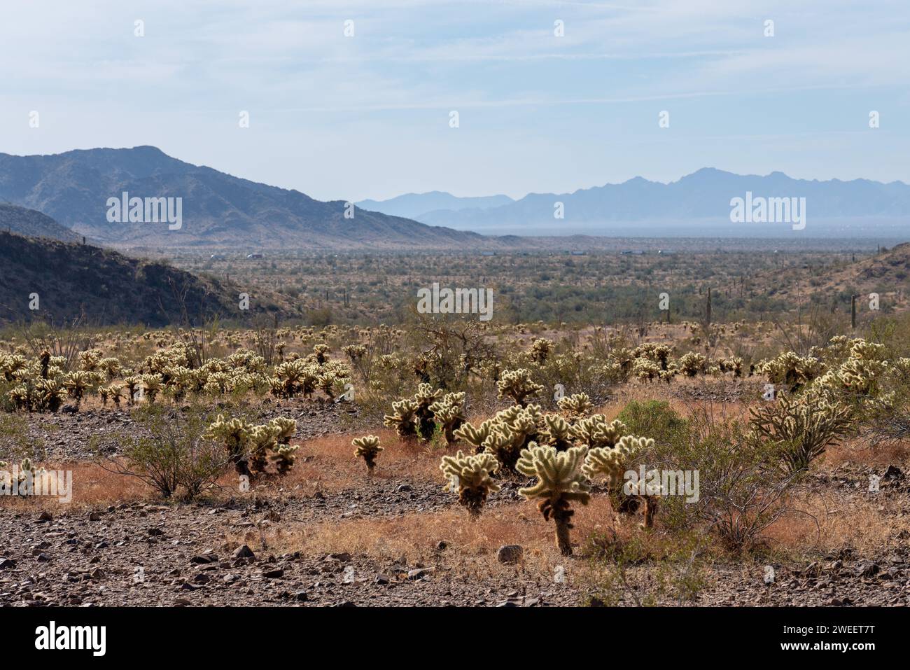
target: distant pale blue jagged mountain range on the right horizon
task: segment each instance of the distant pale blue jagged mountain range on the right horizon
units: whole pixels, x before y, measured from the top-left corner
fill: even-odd
[[[843,222],[842,232],[858,229],[860,220],[868,225],[864,234],[895,234],[910,226],[910,186],[903,182],[882,184],[866,179],[853,181],[804,180],[782,172],[764,177],[735,175],[703,168],[669,184],[640,177],[622,184],[607,184],[574,193],[530,194],[497,208],[437,211],[420,220],[483,233],[504,234],[525,230],[525,234],[629,234],[691,235],[704,233],[704,222],[713,222],[716,232],[743,236],[787,232],[784,224],[732,223],[732,198],[806,198],[807,231],[813,222],[826,227]],[[553,216],[561,202],[564,218]],[[851,220],[854,219],[854,220]],[[647,223],[647,226],[642,226]],[[818,231],[818,228],[815,229]]]

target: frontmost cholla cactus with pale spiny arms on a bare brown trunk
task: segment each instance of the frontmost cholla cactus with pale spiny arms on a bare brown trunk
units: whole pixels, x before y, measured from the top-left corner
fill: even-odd
[[[537,477],[531,486],[519,489],[528,500],[537,500],[537,509],[546,521],[556,524],[556,546],[563,556],[571,556],[571,503],[588,504],[591,485],[581,472],[587,447],[571,447],[557,452],[551,446],[531,444],[521,452],[516,468],[529,477]]]

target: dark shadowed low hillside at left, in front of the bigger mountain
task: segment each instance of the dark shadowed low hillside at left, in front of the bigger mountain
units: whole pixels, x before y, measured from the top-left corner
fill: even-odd
[[[193,325],[215,316],[238,321],[266,312],[282,319],[300,316],[261,289],[247,289],[250,310],[240,312],[238,294],[245,289],[235,283],[110,249],[5,231],[0,231],[0,267],[0,323],[35,318],[59,323],[84,313],[92,325],[158,327],[184,323],[184,305]],[[33,293],[38,295],[36,311],[29,310]]]

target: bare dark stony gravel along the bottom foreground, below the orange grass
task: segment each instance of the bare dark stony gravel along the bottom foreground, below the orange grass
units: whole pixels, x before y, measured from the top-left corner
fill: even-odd
[[[514,505],[507,488],[493,503]],[[905,486],[889,507],[907,512]],[[0,510],[0,604],[43,605],[483,605],[598,604],[588,559],[563,559],[565,580],[526,565],[522,549],[501,549],[500,571],[471,573],[444,538],[430,557],[382,560],[351,553],[284,553],[270,548],[277,528],[404,517],[450,507],[435,482],[373,481],[308,497],[228,498],[209,504],[121,503],[41,513],[28,502]],[[263,540],[266,543],[263,544]],[[698,597],[703,605],[910,604],[910,530],[872,557],[851,549],[809,563],[720,563]],[[648,565],[630,570],[647,582]],[[631,604],[632,597],[622,602]]]

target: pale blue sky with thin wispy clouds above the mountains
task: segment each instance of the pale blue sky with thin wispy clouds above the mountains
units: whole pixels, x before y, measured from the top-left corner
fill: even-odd
[[[344,200],[518,198],[699,167],[910,182],[906,0],[57,0],[0,11],[5,153],[149,144]]]

